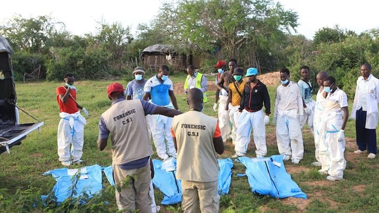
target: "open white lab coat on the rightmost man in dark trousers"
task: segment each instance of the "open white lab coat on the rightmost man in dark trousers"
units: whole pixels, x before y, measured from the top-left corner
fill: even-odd
[[[351,110],[350,118],[355,120],[355,113],[358,110],[358,100],[359,100],[359,92],[358,85],[359,82],[364,80],[362,76],[360,76],[357,80],[357,87],[355,89],[354,103],[353,108]],[[368,95],[367,95],[367,116],[366,116],[366,129],[376,129],[378,125],[378,103],[379,103],[379,80],[374,77],[373,74],[367,78],[369,81],[368,85]]]

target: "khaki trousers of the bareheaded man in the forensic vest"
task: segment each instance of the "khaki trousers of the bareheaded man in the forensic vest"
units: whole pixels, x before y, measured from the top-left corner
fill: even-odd
[[[220,196],[217,194],[217,181],[181,181],[184,213],[218,213]]]

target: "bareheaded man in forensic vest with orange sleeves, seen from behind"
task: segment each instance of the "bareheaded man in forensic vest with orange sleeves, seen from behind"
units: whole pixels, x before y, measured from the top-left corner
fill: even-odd
[[[192,88],[187,93],[190,110],[172,119],[171,134],[177,150],[176,177],[182,183],[184,213],[217,213],[218,163],[216,152],[224,143],[216,118],[201,112],[203,93]]]

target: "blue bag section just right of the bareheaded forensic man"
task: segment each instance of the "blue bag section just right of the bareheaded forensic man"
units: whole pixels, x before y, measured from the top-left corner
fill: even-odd
[[[224,195],[229,193],[230,183],[232,181],[233,162],[230,158],[218,159],[218,179],[217,193]]]

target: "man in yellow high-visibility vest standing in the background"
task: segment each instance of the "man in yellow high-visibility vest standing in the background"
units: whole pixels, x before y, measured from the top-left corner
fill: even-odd
[[[198,88],[203,92],[204,103],[208,102],[207,90],[208,81],[207,78],[200,72],[195,71],[194,66],[188,65],[187,67],[187,78],[184,82],[184,90],[188,92],[189,89]]]

